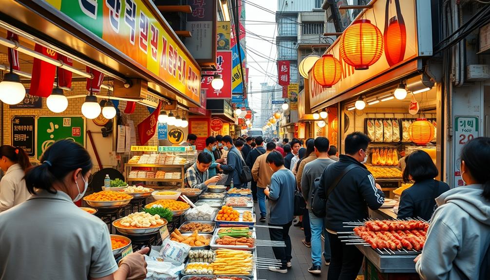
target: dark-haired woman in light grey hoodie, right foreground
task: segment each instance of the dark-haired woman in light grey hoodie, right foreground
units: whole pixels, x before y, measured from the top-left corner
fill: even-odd
[[[436,198],[417,272],[423,280],[490,279],[490,138],[468,141],[461,150],[465,186]]]

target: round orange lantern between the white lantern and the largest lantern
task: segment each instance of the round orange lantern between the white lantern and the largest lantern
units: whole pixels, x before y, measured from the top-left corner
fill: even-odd
[[[313,65],[313,78],[324,88],[331,88],[341,77],[342,65],[331,54],[324,54]]]

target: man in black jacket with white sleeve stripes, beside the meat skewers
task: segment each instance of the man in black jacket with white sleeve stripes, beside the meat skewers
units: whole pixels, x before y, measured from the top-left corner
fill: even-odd
[[[345,155],[340,155],[339,162],[330,164],[320,178],[318,195],[327,199],[326,230],[330,240],[331,260],[328,269],[328,280],[356,279],[363,263],[363,254],[354,246],[346,245],[339,239],[337,232],[346,232],[344,222],[362,221],[368,218],[368,207],[380,208],[385,202],[381,187],[374,183],[374,177],[364,162],[371,142],[361,132],[354,132],[345,138]],[[353,165],[352,165],[353,164]],[[352,165],[340,179],[336,187],[326,196],[329,187],[343,171]]]

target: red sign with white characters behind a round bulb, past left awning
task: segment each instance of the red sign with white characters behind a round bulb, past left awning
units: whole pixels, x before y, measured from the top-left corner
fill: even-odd
[[[201,89],[206,90],[207,98],[231,98],[231,51],[218,51],[216,55],[216,73],[221,75],[224,86],[221,90],[215,90],[211,86],[213,76],[202,77]],[[212,74],[213,72],[209,72]]]

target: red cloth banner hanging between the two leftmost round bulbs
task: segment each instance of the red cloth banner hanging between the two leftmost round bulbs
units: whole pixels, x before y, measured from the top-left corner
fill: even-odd
[[[34,50],[53,59],[58,59],[58,54],[50,48],[36,44]],[[34,58],[29,94],[48,97],[53,90],[55,72],[56,66],[38,58]]]

